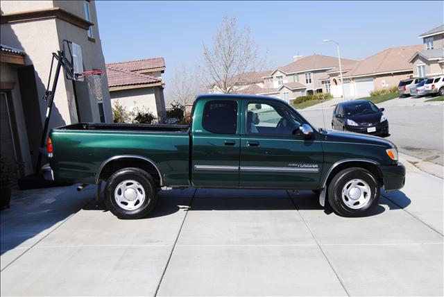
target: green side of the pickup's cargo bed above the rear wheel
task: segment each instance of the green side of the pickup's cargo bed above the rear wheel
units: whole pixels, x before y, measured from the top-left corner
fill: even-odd
[[[79,123],[54,128],[50,137],[57,180],[96,183],[103,164],[136,155],[158,167],[163,185],[189,183],[189,126]]]

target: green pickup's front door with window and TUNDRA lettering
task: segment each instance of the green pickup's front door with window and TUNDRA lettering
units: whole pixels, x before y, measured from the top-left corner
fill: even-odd
[[[278,101],[244,101],[242,110],[240,186],[316,189],[323,166],[318,133],[293,135],[305,119]]]

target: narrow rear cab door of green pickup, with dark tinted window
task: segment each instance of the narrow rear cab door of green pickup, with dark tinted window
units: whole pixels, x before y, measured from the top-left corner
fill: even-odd
[[[192,124],[191,183],[239,187],[240,106],[236,99],[200,99]]]

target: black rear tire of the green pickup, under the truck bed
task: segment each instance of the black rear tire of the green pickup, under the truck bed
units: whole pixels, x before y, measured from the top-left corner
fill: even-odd
[[[128,183],[125,184],[124,182],[126,180],[128,180]],[[136,183],[132,183],[130,180]],[[121,192],[121,187],[128,186],[135,188],[132,190],[133,193],[137,195],[136,198],[133,198],[135,205],[125,204],[126,201],[128,201],[125,198],[123,198],[122,201],[117,201],[119,199],[114,195],[117,193],[117,197],[119,197],[119,190],[115,192],[117,187],[119,187]],[[108,178],[105,187],[105,205],[108,207],[108,210],[119,219],[141,219],[153,210],[157,202],[156,189],[157,185],[151,175],[146,173],[146,171],[139,168],[120,169]],[[122,192],[120,196],[125,197]],[[142,199],[142,197],[144,198]],[[132,203],[132,201],[129,202]],[[132,209],[133,207],[134,209]]]

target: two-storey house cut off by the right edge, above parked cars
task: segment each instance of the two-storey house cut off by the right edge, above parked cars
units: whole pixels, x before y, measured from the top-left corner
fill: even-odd
[[[419,38],[422,38],[424,45],[409,59],[413,75],[428,77],[444,74],[444,25],[422,33]]]

